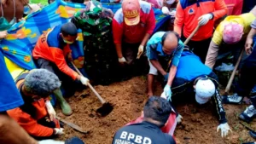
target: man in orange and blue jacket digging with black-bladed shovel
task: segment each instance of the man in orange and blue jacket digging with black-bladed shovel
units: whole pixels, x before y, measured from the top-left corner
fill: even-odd
[[[54,72],[61,79],[61,87],[65,89],[66,95],[73,95],[75,92],[77,84],[73,83],[74,80],[78,80],[84,85],[89,83],[88,78],[80,76],[67,66],[67,62],[72,60],[72,50],[69,44],[75,42],[77,35],[77,28],[71,22],[55,26],[50,32],[39,37],[38,43],[32,51],[33,59],[38,67]],[[62,97],[61,90],[55,91],[54,94],[61,102],[63,114],[71,115],[72,110]]]

